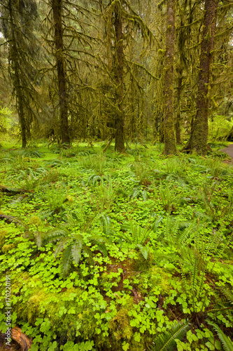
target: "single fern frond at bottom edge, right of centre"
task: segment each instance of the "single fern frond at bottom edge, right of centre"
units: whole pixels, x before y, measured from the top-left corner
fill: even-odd
[[[148,348],[151,351],[171,351],[176,348],[176,339],[182,340],[185,333],[190,328],[190,324],[186,321],[173,322],[171,328],[161,333],[153,341],[153,345]]]

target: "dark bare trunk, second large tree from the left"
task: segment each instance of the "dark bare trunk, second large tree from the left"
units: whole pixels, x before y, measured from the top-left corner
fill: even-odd
[[[55,49],[57,80],[59,90],[60,133],[62,143],[70,143],[68,124],[68,102],[66,93],[66,74],[64,60],[63,26],[62,26],[62,0],[52,0],[52,14],[55,27]]]

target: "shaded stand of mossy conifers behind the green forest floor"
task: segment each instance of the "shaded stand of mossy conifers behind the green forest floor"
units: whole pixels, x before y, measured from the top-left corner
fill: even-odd
[[[232,140],[232,5],[2,0],[1,134],[119,152],[160,141],[165,154]]]

